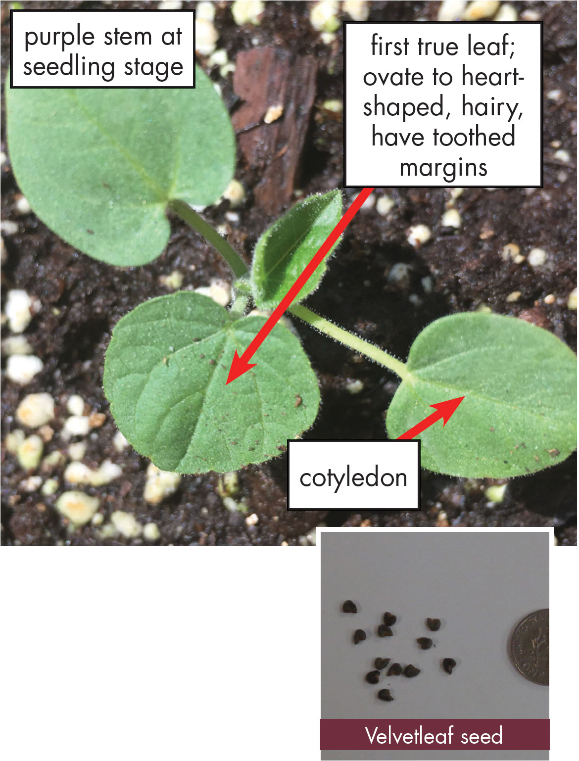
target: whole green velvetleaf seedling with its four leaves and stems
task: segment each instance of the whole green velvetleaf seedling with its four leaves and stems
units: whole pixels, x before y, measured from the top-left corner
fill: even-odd
[[[229,115],[200,68],[194,90],[8,88],[6,103],[17,182],[69,244],[116,266],[146,264],[167,244],[169,208],[234,274],[228,310],[181,291],[145,301],[113,330],[103,385],[135,450],[163,470],[226,472],[275,457],[310,428],[317,378],[286,326],[278,323],[259,348],[259,364],[226,386],[227,370],[265,323],[245,316],[250,301],[274,307],[336,227],[339,190],[310,196],[278,219],[259,238],[248,271],[192,209],[221,196],[235,164]],[[424,419],[431,404],[465,397],[447,425],[423,431],[422,466],[506,478],[574,451],[576,357],[556,336],[513,317],[453,314],[422,330],[404,363],[301,303],[320,285],[327,259],[289,311],[399,375],[386,418],[390,438]]]

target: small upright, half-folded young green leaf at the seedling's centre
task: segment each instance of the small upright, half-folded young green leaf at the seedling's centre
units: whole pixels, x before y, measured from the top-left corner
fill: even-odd
[[[259,309],[275,309],[304,272],[342,217],[342,193],[331,190],[294,205],[259,238],[253,253],[251,288]],[[316,290],[339,241],[301,289],[292,304]]]

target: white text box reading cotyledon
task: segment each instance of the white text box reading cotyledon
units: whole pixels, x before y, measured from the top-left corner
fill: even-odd
[[[289,443],[289,506],[300,510],[352,510],[352,505],[364,505],[364,510],[418,510],[420,491],[420,457],[418,440],[410,441],[290,441]],[[346,469],[350,466],[350,486]],[[378,486],[367,486],[365,477],[374,483],[378,466]],[[328,486],[329,470],[331,486]],[[354,486],[352,476],[361,473],[364,482]],[[382,486],[383,474],[393,476],[392,486]],[[406,474],[397,479],[397,474]],[[304,486],[302,476],[304,477]],[[324,486],[320,475],[325,476]],[[344,478],[338,486],[338,479]],[[359,481],[360,479],[357,479]],[[390,483],[387,476],[385,483]],[[398,486],[396,486],[398,484]]]

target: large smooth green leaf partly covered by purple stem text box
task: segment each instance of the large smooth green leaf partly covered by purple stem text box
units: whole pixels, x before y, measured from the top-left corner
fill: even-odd
[[[94,259],[154,260],[170,200],[215,202],[234,171],[229,115],[202,70],[196,88],[7,88],[18,185],[49,228]]]

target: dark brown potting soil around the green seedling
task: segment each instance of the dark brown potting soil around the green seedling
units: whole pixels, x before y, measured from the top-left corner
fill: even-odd
[[[119,5],[157,6],[148,2],[113,2],[106,6],[92,2],[31,2],[28,7],[62,9],[78,5],[107,9]],[[184,3],[184,7],[193,5]],[[324,108],[323,103],[343,97],[342,33],[338,33],[333,43],[323,44],[311,27],[309,3],[268,2],[259,27],[237,27],[230,4],[215,5],[215,27],[221,35],[218,47],[224,47],[231,60],[237,58],[237,85],[233,75],[221,78],[218,67],[208,69],[208,62],[205,59],[201,62],[221,85],[228,107],[234,112],[240,106],[235,86],[239,88],[239,82],[243,81],[240,65],[249,65],[249,56],[239,56],[240,53],[273,46],[278,53],[291,56],[291,65],[285,66],[283,55],[281,59],[278,55],[275,72],[283,72],[285,66],[294,80],[301,75],[311,77],[314,70],[315,97],[312,103],[301,107],[301,113],[288,116],[294,123],[285,124],[286,133],[282,129],[277,133],[279,139],[284,139],[284,134],[290,135],[286,139],[291,142],[289,155],[283,158],[285,154],[281,154],[278,158],[286,162],[285,180],[288,173],[294,172],[293,190],[310,194],[341,187],[342,119],[339,113]],[[434,20],[438,5],[374,2],[370,18]],[[544,187],[465,189],[454,202],[462,217],[458,230],[441,225],[450,200],[448,190],[377,188],[375,196],[390,196],[395,202],[393,209],[385,216],[375,208],[358,213],[322,287],[310,298],[313,309],[400,358],[406,358],[413,339],[431,320],[482,306],[552,330],[575,349],[577,313],[568,308],[567,302],[576,279],[576,8],[570,2],[512,5],[519,12],[536,11],[545,22]],[[2,5],[2,43],[5,76],[9,55],[8,4]],[[269,89],[275,94],[275,87],[285,84],[273,81],[272,87],[269,82]],[[299,87],[286,90],[290,99],[307,100]],[[560,96],[553,98],[552,91],[560,91]],[[551,97],[547,97],[548,93]],[[304,108],[309,109],[305,125]],[[291,114],[291,102],[286,102],[285,113]],[[272,171],[275,157],[259,156],[259,145],[268,139],[265,132],[258,131],[253,143],[246,141],[243,151],[240,148],[236,177],[243,183],[247,198],[236,210],[239,221],[225,217],[228,202],[205,212],[212,224],[227,224],[231,244],[248,261],[259,234],[275,218],[271,209],[276,205],[280,210],[286,209],[294,200],[287,197],[287,182],[284,186],[278,179],[280,173]],[[4,132],[2,150],[8,154]],[[571,161],[555,156],[558,150],[568,151]],[[3,384],[2,543],[142,543],[142,537],[129,539],[119,533],[103,533],[110,514],[119,510],[133,514],[139,524],[157,524],[161,534],[158,542],[162,544],[307,544],[312,541],[313,528],[320,524],[555,526],[558,543],[576,543],[575,457],[542,473],[509,481],[499,503],[489,501],[485,490],[501,482],[456,479],[423,471],[422,511],[418,513],[367,513],[364,505],[352,505],[349,513],[288,512],[285,455],[240,471],[239,492],[234,499],[237,503],[243,501],[245,512],[225,507],[216,490],[218,476],[213,473],[183,476],[173,495],[160,504],[148,504],[143,499],[148,461],[130,447],[119,452],[113,444],[116,426],[101,387],[103,356],[111,331],[117,320],[137,304],[170,292],[159,281],[162,275],[179,270],[183,274],[182,287],[197,288],[208,285],[212,278],[231,279],[230,272],[215,251],[177,218],[171,219],[170,242],[154,263],[136,269],[116,269],[96,262],[65,244],[32,213],[18,215],[15,202],[20,190],[11,174],[9,155],[2,165],[2,181],[2,218],[17,222],[16,232],[4,234],[8,258],[2,266],[2,294],[4,297],[7,290],[21,288],[40,300],[40,311],[25,335],[44,363],[43,371],[30,384],[19,387],[8,380]],[[348,191],[345,202],[354,195],[354,191]],[[267,213],[263,203],[255,202],[256,198],[264,197],[273,199]],[[432,232],[431,240],[418,250],[406,240],[412,224],[426,224]],[[510,243],[517,244],[523,256],[534,247],[546,250],[546,264],[533,268],[526,259],[522,263],[505,261],[501,251]],[[397,263],[408,265],[403,277],[393,277],[400,272],[400,268],[393,270]],[[516,301],[512,296],[507,300],[517,291],[520,296]],[[320,416],[307,438],[387,438],[384,414],[396,390],[396,377],[297,320],[295,323],[320,379],[323,399]],[[516,346],[513,373],[517,374]],[[358,393],[352,393],[354,390]],[[57,513],[56,498],[65,489],[74,488],[65,486],[63,466],[50,474],[59,480],[55,494],[27,492],[24,480],[30,473],[24,472],[14,455],[5,451],[8,431],[18,427],[14,418],[18,403],[27,394],[40,391],[50,393],[57,404],[56,420],[50,423],[54,435],[45,444],[45,454],[56,450],[67,452],[67,443],[59,430],[72,394],[80,395],[91,411],[106,415],[103,425],[86,439],[83,459],[92,468],[106,459],[122,466],[122,476],[107,486],[82,487],[100,498],[103,515],[100,526],[87,524],[72,530]]]

